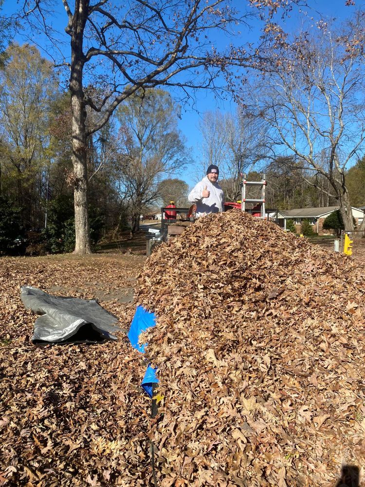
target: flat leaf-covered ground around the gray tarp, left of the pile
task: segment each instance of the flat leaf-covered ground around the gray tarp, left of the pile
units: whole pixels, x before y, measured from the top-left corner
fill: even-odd
[[[63,296],[103,298],[128,328],[123,303],[145,258],[1,258],[0,485],[145,486],[150,475],[150,401],[140,354],[118,342],[36,347],[36,316],[20,285]]]

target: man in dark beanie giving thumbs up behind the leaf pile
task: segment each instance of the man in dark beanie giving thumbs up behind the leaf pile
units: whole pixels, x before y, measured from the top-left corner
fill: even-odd
[[[189,202],[197,205],[197,217],[223,211],[223,189],[217,183],[218,176],[218,167],[211,164],[206,176],[189,193]]]

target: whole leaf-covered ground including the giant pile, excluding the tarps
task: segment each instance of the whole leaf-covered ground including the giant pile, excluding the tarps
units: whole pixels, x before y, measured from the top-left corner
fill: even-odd
[[[363,276],[359,261],[239,212],[147,261],[1,258],[0,486],[152,486],[152,438],[161,487],[356,486],[340,474],[364,465]],[[125,334],[35,347],[25,284],[97,298],[124,329],[137,285],[158,315],[155,421]]]

